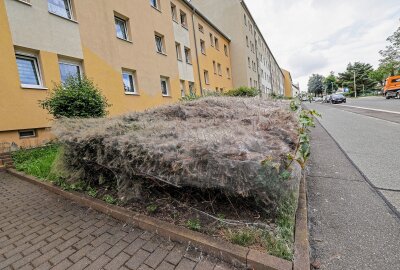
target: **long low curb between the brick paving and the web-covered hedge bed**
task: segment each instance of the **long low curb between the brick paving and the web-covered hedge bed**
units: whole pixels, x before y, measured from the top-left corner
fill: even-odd
[[[82,206],[92,208],[117,220],[137,226],[140,229],[155,232],[173,241],[193,245],[203,252],[213,255],[216,258],[231,263],[235,266],[245,266],[249,269],[255,270],[290,270],[293,267],[292,262],[287,260],[280,259],[266,253],[261,253],[259,251],[251,250],[249,248],[234,245],[225,241],[219,241],[207,235],[203,235],[186,228],[178,227],[155,218],[128,211],[119,206],[108,205],[101,200],[91,198],[78,192],[64,191],[50,183],[41,182],[35,177],[25,175],[14,169],[8,169],[7,171],[11,175],[18,177],[21,180],[25,180],[48,191],[56,193],[66,199],[77,202]],[[308,241],[308,239],[306,240]]]

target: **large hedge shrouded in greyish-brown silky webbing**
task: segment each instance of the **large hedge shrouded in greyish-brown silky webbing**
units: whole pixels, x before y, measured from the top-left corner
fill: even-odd
[[[113,179],[125,201],[141,198],[151,181],[253,197],[273,212],[297,186],[297,177],[281,177],[297,140],[287,108],[282,101],[209,97],[112,119],[60,120],[54,132],[75,179],[94,186]]]

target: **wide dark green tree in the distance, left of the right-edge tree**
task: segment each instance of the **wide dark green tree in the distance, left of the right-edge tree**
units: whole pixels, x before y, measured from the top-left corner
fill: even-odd
[[[370,73],[373,70],[373,67],[367,63],[349,63],[347,65],[346,71],[343,73],[339,73],[338,82],[344,87],[348,87],[351,92],[356,91],[357,94],[362,90],[376,90],[377,82],[370,77]],[[356,79],[357,89],[354,89],[354,75]]]

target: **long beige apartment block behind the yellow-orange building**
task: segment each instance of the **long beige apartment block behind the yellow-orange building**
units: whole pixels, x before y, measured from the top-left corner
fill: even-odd
[[[232,40],[234,87],[250,86],[264,94],[284,93],[284,75],[243,0],[192,0]]]

